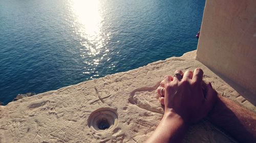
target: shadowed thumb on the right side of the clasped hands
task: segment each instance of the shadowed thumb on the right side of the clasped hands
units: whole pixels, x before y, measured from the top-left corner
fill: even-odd
[[[206,85],[206,96],[205,96],[205,108],[209,111],[215,104],[217,100],[217,92],[212,88],[209,82]]]

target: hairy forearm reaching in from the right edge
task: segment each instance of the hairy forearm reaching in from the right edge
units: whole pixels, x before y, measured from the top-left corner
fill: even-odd
[[[237,103],[219,97],[208,120],[241,142],[256,142],[256,115]]]

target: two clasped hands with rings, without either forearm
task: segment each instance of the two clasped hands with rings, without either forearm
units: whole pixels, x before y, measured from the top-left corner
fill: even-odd
[[[202,78],[201,69],[195,69],[194,73],[177,70],[174,76],[165,76],[157,89],[165,112],[173,109],[188,123],[195,123],[204,118],[212,108],[217,93],[211,84],[205,84]]]

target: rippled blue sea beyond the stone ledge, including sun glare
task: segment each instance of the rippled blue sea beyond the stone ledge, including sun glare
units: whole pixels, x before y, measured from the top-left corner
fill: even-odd
[[[0,101],[197,47],[205,1],[1,0]]]

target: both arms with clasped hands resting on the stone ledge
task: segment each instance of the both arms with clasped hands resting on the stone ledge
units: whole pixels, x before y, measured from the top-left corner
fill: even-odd
[[[211,84],[202,81],[201,69],[175,73],[180,77],[165,76],[157,90],[164,116],[146,142],[181,142],[188,127],[203,118],[241,142],[256,142],[254,112],[217,96]]]

